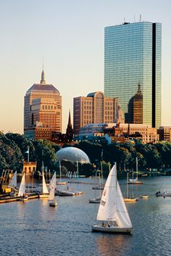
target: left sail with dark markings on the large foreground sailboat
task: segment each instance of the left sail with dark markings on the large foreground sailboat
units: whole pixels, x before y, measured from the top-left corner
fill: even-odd
[[[116,164],[109,173],[99,205],[97,220],[115,220],[116,218]]]

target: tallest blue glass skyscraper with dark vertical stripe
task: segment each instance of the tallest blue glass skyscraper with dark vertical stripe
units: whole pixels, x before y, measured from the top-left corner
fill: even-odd
[[[124,22],[104,29],[104,94],[118,97],[125,122],[141,84],[143,124],[161,125],[162,25]]]

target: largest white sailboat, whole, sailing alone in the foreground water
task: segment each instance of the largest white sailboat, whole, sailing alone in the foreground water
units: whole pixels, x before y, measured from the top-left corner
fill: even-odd
[[[133,230],[125,202],[117,181],[117,164],[112,167],[99,205],[97,220],[101,225],[93,225],[93,231],[110,233],[130,233]]]

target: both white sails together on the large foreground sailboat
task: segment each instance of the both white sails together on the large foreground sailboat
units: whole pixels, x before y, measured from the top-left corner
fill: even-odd
[[[99,205],[97,220],[116,221],[120,228],[132,227],[128,211],[117,181],[117,167],[114,164],[109,173]]]

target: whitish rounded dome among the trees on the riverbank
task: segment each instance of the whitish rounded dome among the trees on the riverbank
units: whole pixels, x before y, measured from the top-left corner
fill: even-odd
[[[57,153],[57,161],[67,160],[71,162],[89,163],[88,155],[83,150],[73,146],[60,149]]]

